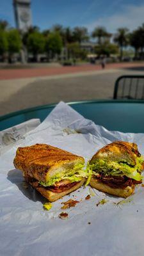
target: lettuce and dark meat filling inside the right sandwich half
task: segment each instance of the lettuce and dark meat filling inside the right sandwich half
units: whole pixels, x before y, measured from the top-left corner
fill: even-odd
[[[106,183],[112,188],[126,188],[132,184],[141,183],[144,159],[135,156],[136,164],[131,165],[127,161],[111,161],[108,159],[95,159],[89,164],[93,177],[100,182]]]

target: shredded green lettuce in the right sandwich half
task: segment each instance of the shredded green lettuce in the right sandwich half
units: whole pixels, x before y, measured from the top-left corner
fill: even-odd
[[[136,165],[129,166],[127,163],[117,163],[115,161],[108,161],[106,159],[97,159],[95,163],[91,164],[90,168],[95,170],[93,174],[102,172],[105,175],[114,175],[114,176],[127,176],[134,180],[141,180],[141,166],[143,164],[143,157],[136,157]]]

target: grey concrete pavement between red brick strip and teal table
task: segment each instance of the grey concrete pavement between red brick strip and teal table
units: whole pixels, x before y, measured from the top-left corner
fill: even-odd
[[[143,74],[143,67],[1,80],[0,115],[60,100],[111,99],[116,78],[123,74]]]

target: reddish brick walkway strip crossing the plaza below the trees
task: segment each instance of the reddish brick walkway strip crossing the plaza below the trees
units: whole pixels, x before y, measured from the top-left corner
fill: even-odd
[[[115,68],[132,68],[144,67],[144,62],[141,63],[113,63],[106,65],[105,70]],[[95,72],[102,70],[100,65],[81,65],[74,67],[43,67],[43,68],[22,68],[22,69],[0,69],[0,80],[4,79],[19,79],[28,77],[43,77],[43,76],[56,76],[62,74],[76,74],[79,72]]]

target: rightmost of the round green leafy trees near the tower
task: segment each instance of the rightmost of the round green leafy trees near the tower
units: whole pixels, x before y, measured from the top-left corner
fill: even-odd
[[[55,54],[60,54],[63,47],[61,36],[58,32],[51,32],[45,42],[45,50],[53,58]]]

